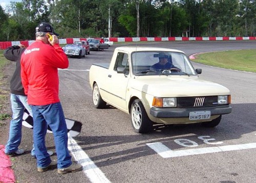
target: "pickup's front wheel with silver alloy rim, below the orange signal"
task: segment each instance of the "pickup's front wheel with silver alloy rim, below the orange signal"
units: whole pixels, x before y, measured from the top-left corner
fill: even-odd
[[[147,133],[153,129],[153,122],[148,118],[145,108],[139,99],[133,101],[131,106],[132,126],[136,133]]]

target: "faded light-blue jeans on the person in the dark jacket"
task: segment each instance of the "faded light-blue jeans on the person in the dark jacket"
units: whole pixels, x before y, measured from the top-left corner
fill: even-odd
[[[32,114],[32,110],[27,102],[27,96],[15,95],[11,93],[12,120],[10,122],[9,140],[5,146],[6,153],[18,150],[22,141],[22,121],[25,108]]]

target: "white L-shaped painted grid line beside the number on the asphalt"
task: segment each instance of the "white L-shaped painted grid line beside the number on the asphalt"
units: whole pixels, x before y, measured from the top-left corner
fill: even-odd
[[[224,152],[231,150],[242,150],[242,149],[252,149],[256,148],[256,143],[249,144],[238,144],[238,145],[226,145],[219,147],[204,147],[198,149],[186,149],[186,150],[171,150],[161,142],[156,143],[148,143],[146,144],[148,147],[155,150],[162,158],[173,158],[178,156],[185,155],[195,155],[195,154],[206,154],[206,153],[214,153],[214,152]]]

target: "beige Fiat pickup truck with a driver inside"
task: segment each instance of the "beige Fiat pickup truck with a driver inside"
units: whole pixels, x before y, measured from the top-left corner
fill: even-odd
[[[199,78],[183,51],[117,47],[110,64],[93,64],[90,85],[95,108],[106,103],[131,115],[137,133],[156,123],[217,126],[231,113],[230,91]]]

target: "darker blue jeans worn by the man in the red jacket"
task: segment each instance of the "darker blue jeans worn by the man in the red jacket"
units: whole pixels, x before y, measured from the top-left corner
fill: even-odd
[[[45,136],[47,124],[51,127],[57,153],[58,168],[72,164],[68,150],[68,129],[60,102],[44,106],[31,105],[34,119],[33,138],[38,168],[45,168],[51,163],[47,153]]]

